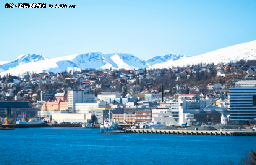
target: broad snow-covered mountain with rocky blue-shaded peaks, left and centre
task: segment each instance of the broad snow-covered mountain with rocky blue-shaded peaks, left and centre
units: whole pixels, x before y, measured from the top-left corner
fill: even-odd
[[[131,54],[102,54],[101,52],[87,52],[83,54],[75,54],[70,56],[45,59],[36,62],[29,62],[24,65],[12,67],[0,74],[6,75],[7,73],[10,73],[12,75],[18,75],[26,73],[26,71],[41,73],[43,70],[56,73],[65,70],[82,70],[86,68],[105,69],[110,67],[117,69],[148,68],[147,62],[145,60],[141,60]]]

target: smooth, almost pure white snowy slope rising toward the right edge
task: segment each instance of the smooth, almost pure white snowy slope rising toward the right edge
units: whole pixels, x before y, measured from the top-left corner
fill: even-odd
[[[256,60],[256,40],[229,46],[226,48],[218,49],[216,51],[208,52],[198,56],[189,57],[180,60],[169,60],[164,63],[153,65],[154,68],[170,68],[177,66],[187,66],[197,63],[230,63],[239,60]]]

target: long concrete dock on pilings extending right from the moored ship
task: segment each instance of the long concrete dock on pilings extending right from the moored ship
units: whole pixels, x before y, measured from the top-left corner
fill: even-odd
[[[245,131],[187,131],[187,130],[147,130],[127,129],[132,133],[172,134],[172,135],[210,135],[210,136],[256,136],[256,132]]]

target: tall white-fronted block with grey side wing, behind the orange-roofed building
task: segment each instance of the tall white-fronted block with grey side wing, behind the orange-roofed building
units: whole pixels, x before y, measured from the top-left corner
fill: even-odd
[[[95,103],[95,93],[86,93],[84,90],[68,91],[68,109],[75,112],[76,103]]]

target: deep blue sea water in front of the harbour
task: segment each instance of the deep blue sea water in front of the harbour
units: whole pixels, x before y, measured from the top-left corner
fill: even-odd
[[[238,164],[253,136],[104,134],[99,129],[0,130],[0,165]]]

